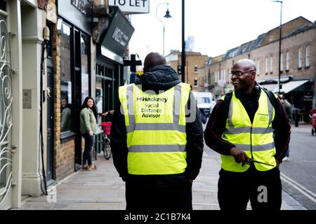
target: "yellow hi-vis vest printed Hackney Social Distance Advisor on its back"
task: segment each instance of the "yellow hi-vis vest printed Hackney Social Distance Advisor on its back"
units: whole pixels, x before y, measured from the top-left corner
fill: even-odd
[[[129,174],[180,174],[187,167],[185,104],[190,85],[179,83],[158,94],[135,84],[119,87],[124,113]]]

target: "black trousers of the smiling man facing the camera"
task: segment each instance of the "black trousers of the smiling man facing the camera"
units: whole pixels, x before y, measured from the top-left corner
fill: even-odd
[[[246,172],[219,172],[218,202],[220,210],[246,210],[248,201],[252,210],[281,209],[282,184],[279,169],[259,172],[251,165]]]

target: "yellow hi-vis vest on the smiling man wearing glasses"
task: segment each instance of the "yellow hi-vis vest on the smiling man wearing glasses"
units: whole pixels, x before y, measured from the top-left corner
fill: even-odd
[[[258,103],[258,110],[251,124],[242,102],[235,96],[235,91],[232,92],[228,119],[222,138],[244,151],[249,158],[275,167],[275,143],[272,129],[275,109],[264,91],[261,91]],[[242,167],[242,163],[235,162],[235,158],[231,155],[221,155],[221,158],[221,167],[227,171],[245,172],[250,167],[249,165]],[[254,165],[258,171],[268,171],[274,168],[257,162]]]

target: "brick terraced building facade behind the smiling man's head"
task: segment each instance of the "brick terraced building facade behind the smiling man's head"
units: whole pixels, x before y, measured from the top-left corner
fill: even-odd
[[[279,77],[279,28],[261,34],[253,41],[232,48],[225,55],[213,57],[208,73],[200,73],[201,79],[209,80],[217,97],[220,80],[225,79],[225,91],[232,89],[230,71],[232,64],[239,59],[252,59],[257,66],[258,83],[269,90],[278,92]],[[280,92],[301,109],[308,113],[315,108],[316,76],[316,22],[298,17],[282,25],[281,40],[281,89]],[[208,77],[211,76],[211,77]],[[207,78],[206,78],[207,77]],[[298,82],[299,81],[299,82]],[[305,121],[308,120],[305,115]]]

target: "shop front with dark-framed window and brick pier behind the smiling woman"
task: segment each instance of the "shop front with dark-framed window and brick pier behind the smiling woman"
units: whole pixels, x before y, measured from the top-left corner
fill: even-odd
[[[54,176],[58,180],[81,167],[79,114],[84,99],[91,95],[91,21],[90,1],[58,1],[58,22],[52,43],[57,98]]]

